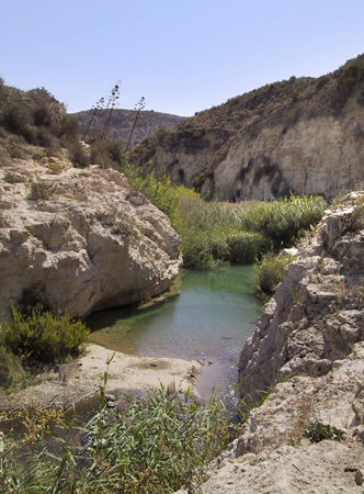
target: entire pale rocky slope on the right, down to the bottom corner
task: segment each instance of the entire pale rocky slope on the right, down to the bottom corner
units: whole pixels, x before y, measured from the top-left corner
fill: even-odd
[[[265,305],[239,362],[259,406],[203,494],[364,492],[363,204],[352,193],[327,211]],[[304,437],[319,425],[341,440]]]

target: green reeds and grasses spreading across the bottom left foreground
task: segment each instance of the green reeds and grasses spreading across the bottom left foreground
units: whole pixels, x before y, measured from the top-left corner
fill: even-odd
[[[101,386],[102,406],[79,430],[73,422],[64,424],[64,415],[47,412],[59,440],[55,430],[50,446],[33,435],[32,454],[0,438],[0,485],[7,480],[20,493],[196,492],[208,462],[229,439],[216,398],[202,406],[189,391],[160,388],[143,398],[123,395],[117,408],[107,408],[104,396]]]

